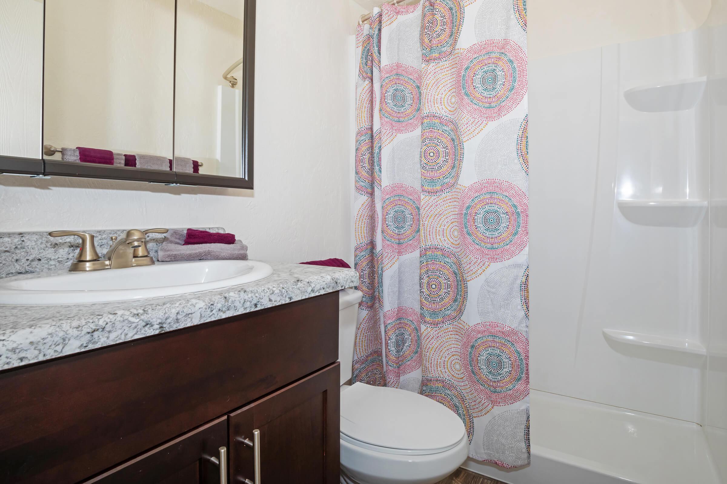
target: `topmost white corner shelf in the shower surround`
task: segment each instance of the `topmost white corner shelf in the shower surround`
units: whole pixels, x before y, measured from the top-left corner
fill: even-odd
[[[651,83],[624,91],[624,99],[640,112],[690,110],[702,99],[707,78]]]

